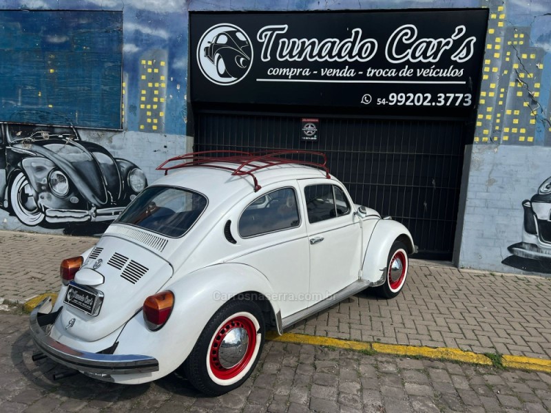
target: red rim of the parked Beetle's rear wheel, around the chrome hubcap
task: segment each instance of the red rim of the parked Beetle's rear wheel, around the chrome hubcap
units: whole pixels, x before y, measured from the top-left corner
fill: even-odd
[[[231,368],[224,368],[218,360],[218,349],[220,344],[224,341],[224,337],[234,328],[244,328],[249,335],[249,344],[245,355],[236,366]],[[214,340],[212,341],[211,348],[209,349],[209,363],[211,366],[211,371],[217,379],[228,380],[236,377],[240,372],[245,370],[251,359],[253,358],[254,350],[256,348],[256,327],[251,319],[245,316],[238,316],[229,319],[223,326],[218,329]]]

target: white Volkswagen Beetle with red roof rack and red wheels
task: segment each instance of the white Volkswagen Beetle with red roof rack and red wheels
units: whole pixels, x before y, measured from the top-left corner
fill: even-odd
[[[179,170],[62,262],[57,301],[30,316],[35,359],[129,384],[183,365],[198,390],[222,394],[249,377],[267,329],[282,334],[367,287],[399,294],[409,231],[353,204],[325,162],[289,153],[305,155],[193,153],[161,165]]]

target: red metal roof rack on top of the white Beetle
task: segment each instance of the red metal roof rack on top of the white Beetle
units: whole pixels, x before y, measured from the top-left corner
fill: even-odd
[[[216,154],[216,156],[215,156]],[[307,160],[297,160],[286,156],[300,154],[318,156],[323,159],[322,163],[312,162]],[[176,165],[167,166],[169,162],[178,162]],[[220,165],[223,164],[223,165]],[[254,172],[274,165],[299,164],[317,167],[325,171],[326,177],[329,179],[329,168],[327,167],[327,156],[323,152],[301,151],[298,149],[273,149],[258,152],[243,152],[243,151],[202,151],[186,153],[185,155],[174,156],[165,160],[157,167],[158,171],[165,171],[167,175],[171,169],[179,169],[185,167],[209,167],[216,169],[226,169],[231,171],[232,175],[244,176],[248,175],[253,178],[254,191],[258,191],[261,187],[258,184]],[[247,167],[247,169],[245,169]]]

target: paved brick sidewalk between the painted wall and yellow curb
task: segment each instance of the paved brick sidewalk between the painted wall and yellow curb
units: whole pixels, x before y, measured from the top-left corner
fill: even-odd
[[[96,242],[0,231],[0,298],[21,303],[59,290],[59,264]],[[404,292],[368,290],[302,321],[307,335],[551,359],[551,279],[458,270],[412,260]]]

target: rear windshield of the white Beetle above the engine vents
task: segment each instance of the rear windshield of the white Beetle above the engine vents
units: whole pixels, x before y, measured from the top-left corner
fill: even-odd
[[[207,207],[200,193],[169,187],[149,187],[128,206],[117,222],[132,224],[167,237],[181,237]]]

